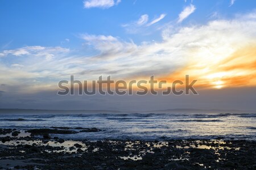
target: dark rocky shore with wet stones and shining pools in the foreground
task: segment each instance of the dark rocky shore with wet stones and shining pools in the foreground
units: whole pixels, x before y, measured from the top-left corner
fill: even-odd
[[[0,169],[256,169],[256,141],[71,141],[100,129],[0,129]]]

